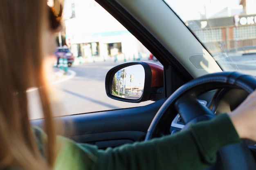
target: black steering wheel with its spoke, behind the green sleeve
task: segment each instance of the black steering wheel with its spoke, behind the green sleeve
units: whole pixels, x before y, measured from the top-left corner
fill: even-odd
[[[161,106],[151,122],[145,140],[166,134],[166,129],[179,113],[185,127],[190,123],[209,120],[216,115],[197,100],[198,95],[217,88],[240,88],[248,94],[256,89],[256,78],[238,72],[220,72],[193,79],[178,88]],[[225,146],[218,152],[217,163],[211,170],[255,170],[256,164],[245,144]]]

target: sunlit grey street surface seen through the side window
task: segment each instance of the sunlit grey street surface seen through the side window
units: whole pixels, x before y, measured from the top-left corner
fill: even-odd
[[[152,101],[141,103],[120,102],[110,99],[105,91],[105,76],[110,68],[124,61],[92,62],[74,65],[69,68],[76,75],[71,79],[52,85],[56,100],[56,116],[90,113],[103,110],[144,106]],[[159,63],[159,62],[158,62]],[[30,119],[42,118],[38,109],[36,91],[29,92]]]

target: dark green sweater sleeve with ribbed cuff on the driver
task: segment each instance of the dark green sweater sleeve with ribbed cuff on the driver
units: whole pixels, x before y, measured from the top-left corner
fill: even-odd
[[[106,150],[59,136],[61,151],[55,169],[202,170],[215,163],[220,148],[240,142],[227,114],[191,125],[188,130],[172,136]]]

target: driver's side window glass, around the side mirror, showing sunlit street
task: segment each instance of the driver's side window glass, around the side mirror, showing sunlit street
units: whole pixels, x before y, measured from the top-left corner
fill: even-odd
[[[65,29],[56,41],[62,46],[58,48],[70,49],[71,53],[56,55],[54,70],[59,77],[52,81],[65,107],[63,115],[152,103],[120,102],[108,98],[105,91],[106,73],[118,64],[138,60],[160,64],[150,51],[94,0],[67,0],[64,12]],[[62,57],[67,61],[59,60]]]

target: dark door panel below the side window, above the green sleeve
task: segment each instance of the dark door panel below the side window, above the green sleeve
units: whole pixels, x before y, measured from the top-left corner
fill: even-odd
[[[95,144],[99,148],[115,147],[144,140],[148,126],[165,100],[136,108],[68,115],[55,119],[65,123],[66,137],[70,139]],[[43,121],[44,119],[31,120],[31,124],[43,127]],[[74,130],[70,130],[71,128]]]

